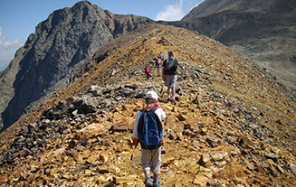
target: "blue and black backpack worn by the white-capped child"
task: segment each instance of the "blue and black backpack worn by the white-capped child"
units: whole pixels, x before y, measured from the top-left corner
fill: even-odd
[[[158,108],[142,109],[138,120],[138,141],[142,149],[157,149],[162,145],[163,128],[155,111]]]

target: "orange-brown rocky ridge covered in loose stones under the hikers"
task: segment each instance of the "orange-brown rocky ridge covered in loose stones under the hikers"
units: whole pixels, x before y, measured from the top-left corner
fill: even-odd
[[[176,105],[155,68],[168,50],[179,61]],[[140,148],[129,145],[148,90],[167,114],[162,186],[296,185],[295,103],[230,48],[151,24],[84,61],[67,87],[0,135],[1,186],[144,186]]]

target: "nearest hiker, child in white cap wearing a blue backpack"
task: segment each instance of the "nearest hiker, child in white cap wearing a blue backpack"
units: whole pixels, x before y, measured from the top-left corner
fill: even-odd
[[[147,106],[139,110],[133,129],[132,144],[141,145],[141,165],[145,174],[145,186],[160,187],[159,173],[161,164],[161,145],[163,130],[161,120],[166,113],[158,105],[158,94],[148,91],[145,102]],[[130,158],[132,159],[132,158]],[[153,173],[153,183],[150,171]]]

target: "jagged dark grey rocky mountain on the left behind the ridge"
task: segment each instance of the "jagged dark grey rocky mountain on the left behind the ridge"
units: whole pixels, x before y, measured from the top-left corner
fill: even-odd
[[[36,26],[1,73],[2,130],[34,108],[39,99],[66,86],[78,70],[87,70],[89,61],[81,60],[106,42],[149,23],[153,21],[146,17],[112,14],[87,1],[54,11]]]

